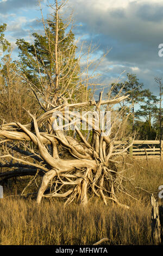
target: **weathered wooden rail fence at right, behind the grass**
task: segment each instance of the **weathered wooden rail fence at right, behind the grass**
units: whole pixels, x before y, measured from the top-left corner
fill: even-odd
[[[130,138],[129,144],[133,143],[124,154],[130,154],[131,157],[161,157],[163,159],[163,141],[133,141]],[[123,145],[123,141],[116,141],[115,145]],[[123,149],[116,149],[122,151]]]

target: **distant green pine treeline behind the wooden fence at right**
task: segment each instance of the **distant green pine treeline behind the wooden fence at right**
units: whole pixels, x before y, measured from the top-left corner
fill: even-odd
[[[135,74],[128,73],[126,82],[116,84],[112,92],[116,95],[122,90],[124,94],[129,94],[129,99],[122,101],[118,110],[122,111],[122,120],[129,116],[127,130],[135,133],[137,139],[162,139],[161,78],[154,78],[154,83],[159,87],[159,96],[144,89],[144,84],[139,82]]]

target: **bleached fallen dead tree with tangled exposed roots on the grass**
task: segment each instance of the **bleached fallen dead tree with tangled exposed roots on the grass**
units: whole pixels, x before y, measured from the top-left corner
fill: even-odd
[[[42,197],[61,197],[66,198],[65,204],[71,203],[76,198],[80,204],[85,206],[87,204],[87,194],[89,193],[101,197],[104,204],[108,204],[108,199],[110,199],[121,205],[116,197],[115,187],[122,185],[123,174],[122,172],[118,173],[114,168],[111,169],[112,164],[116,162],[114,157],[120,155],[116,151],[117,146],[114,145],[114,140],[121,127],[118,127],[116,134],[110,131],[110,135],[105,136],[101,127],[97,129],[96,122],[97,118],[100,118],[100,107],[102,105],[111,106],[126,99],[126,97],[118,96],[112,100],[103,101],[101,93],[98,101],[71,104],[66,99],[58,99],[57,106],[38,118],[29,113],[30,117],[32,117],[30,124],[10,123],[2,125],[0,137],[3,140],[1,144],[3,144],[4,151],[7,153],[1,156],[1,159],[3,159],[1,167],[18,168],[12,172],[1,173],[0,178],[8,179],[10,175],[13,177],[17,176],[17,174],[18,176],[35,175],[36,170],[39,169],[44,175],[37,194],[37,203],[41,202]],[[82,131],[76,125],[77,119],[75,119],[73,126],[78,134],[78,139],[65,135],[56,120],[59,116],[64,121],[71,121],[70,124],[72,125],[73,122],[70,116],[73,115],[73,111],[71,109],[83,106],[96,107],[97,115],[92,119],[92,124],[89,123],[89,119],[86,119],[84,115],[77,117],[77,113],[74,113],[74,116],[78,118],[78,123],[85,121],[87,125],[92,125],[92,138],[89,141],[86,140],[82,135]],[[66,120],[67,118],[68,120]],[[42,124],[46,125],[46,123],[53,124],[53,133],[40,132],[39,127]],[[116,120],[112,120],[111,129],[114,128],[115,124]],[[14,145],[13,141],[20,141],[23,145],[25,145],[25,141],[30,141],[34,144],[33,148],[37,148],[38,153],[34,153],[34,150],[28,151],[29,149],[27,150],[27,148],[22,150]],[[51,153],[46,147],[47,144],[51,145]],[[68,160],[61,159],[58,154],[58,145],[66,148],[73,159],[72,157]],[[124,148],[123,141],[121,154],[128,148],[128,144]],[[35,162],[27,161],[27,159],[23,158],[16,159],[10,153],[11,150],[15,150],[21,155],[26,155],[26,157],[28,156]],[[4,160],[9,158],[13,161],[4,163]],[[44,194],[49,184],[55,185],[54,190],[49,194]],[[128,206],[124,207],[128,208]]]

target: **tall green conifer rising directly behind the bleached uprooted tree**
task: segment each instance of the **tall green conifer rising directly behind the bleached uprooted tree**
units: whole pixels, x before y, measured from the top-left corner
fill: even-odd
[[[20,67],[28,81],[39,89],[46,88],[48,100],[58,92],[65,95],[78,81],[79,65],[75,56],[76,46],[71,29],[55,13],[53,19],[44,21],[45,33],[33,33],[34,44],[17,40],[20,50]],[[57,46],[57,52],[56,52]]]

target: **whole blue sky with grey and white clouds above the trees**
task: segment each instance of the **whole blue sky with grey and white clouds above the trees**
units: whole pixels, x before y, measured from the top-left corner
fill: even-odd
[[[163,1],[69,0],[68,5],[76,25],[82,25],[74,29],[76,38],[83,35],[87,44],[98,44],[98,57],[111,48],[99,66],[103,82],[126,79],[129,72],[158,95],[154,78],[162,77],[163,82],[163,57],[158,54],[163,44]],[[48,11],[43,9],[45,15]],[[0,24],[8,24],[6,37],[14,47],[16,39],[29,41],[30,34],[39,31],[39,18],[37,0],[0,0]]]

